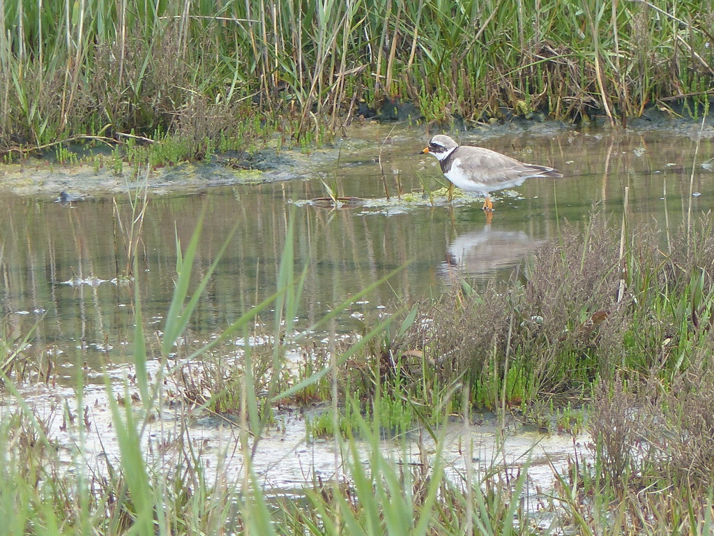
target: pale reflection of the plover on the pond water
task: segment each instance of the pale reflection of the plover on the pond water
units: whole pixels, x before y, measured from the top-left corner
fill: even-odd
[[[459,234],[446,252],[443,264],[448,273],[456,268],[472,277],[490,277],[500,269],[516,266],[538,243],[523,231],[481,231]]]

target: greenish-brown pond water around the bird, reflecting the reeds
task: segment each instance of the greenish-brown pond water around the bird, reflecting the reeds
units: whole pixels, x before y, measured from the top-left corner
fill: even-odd
[[[165,174],[169,178],[160,187],[149,188],[138,249],[136,281],[146,324],[161,329],[174,289],[176,237],[186,247],[204,207],[196,281],[233,226],[237,231],[192,319],[198,339],[211,337],[275,292],[291,220],[296,269],[308,266],[298,327],[308,327],[403,267],[340,317],[338,330],[347,332],[363,315],[438,295],[455,271],[481,282],[508,277],[537,244],[558,236],[564,219],[585,221],[595,209],[618,225],[625,188],[631,219],[659,227],[682,222],[688,210],[696,216],[712,207],[711,127],[705,127],[700,144],[696,124],[670,131],[534,127],[454,134],[461,143],[563,172],[562,179],[530,179],[516,191],[496,192],[490,225],[476,197],[462,195],[449,204],[443,195],[424,193],[446,179],[436,159],[421,154],[430,134],[406,126],[355,126],[337,148],[261,177],[276,182],[211,187],[228,182],[226,173],[212,181],[211,166],[204,168],[203,179],[198,167],[190,179],[173,185]],[[134,287],[125,278],[130,194],[99,193],[106,192],[104,179],[97,179],[99,192],[93,192],[91,173],[84,170],[89,179],[73,193],[87,194],[86,200],[63,205],[55,202],[59,192],[52,188],[66,181],[53,177],[69,176],[71,182],[71,169],[55,164],[39,183],[41,172],[27,173],[37,184],[44,182],[44,191],[25,196],[8,191],[0,199],[0,315],[6,339],[24,336],[37,323],[34,352],[64,364],[67,377],[80,362],[94,369],[103,362],[131,362]],[[326,209],[309,202],[328,195],[325,184],[363,203]],[[121,190],[121,184],[114,186]],[[71,184],[67,189],[72,192]]]

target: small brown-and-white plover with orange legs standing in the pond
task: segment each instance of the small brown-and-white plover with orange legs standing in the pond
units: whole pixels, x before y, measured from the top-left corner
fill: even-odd
[[[441,171],[453,184],[481,194],[486,212],[493,212],[488,192],[521,186],[526,179],[535,177],[563,177],[552,167],[523,164],[491,149],[459,145],[443,134],[433,137],[422,152],[438,159]]]

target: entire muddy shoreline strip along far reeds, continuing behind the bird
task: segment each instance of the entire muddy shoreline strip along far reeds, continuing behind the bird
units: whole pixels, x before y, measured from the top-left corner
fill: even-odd
[[[661,114],[660,114],[661,115]],[[234,184],[261,184],[288,179],[308,179],[320,174],[320,169],[351,167],[363,164],[365,158],[378,162],[388,159],[393,152],[411,149],[418,152],[420,142],[437,131],[449,131],[453,136],[471,144],[499,137],[518,138],[524,135],[549,137],[563,131],[588,133],[608,137],[615,133],[662,131],[672,137],[714,139],[711,121],[694,122],[685,119],[668,120],[664,116],[645,117],[630,122],[628,129],[609,126],[579,126],[563,121],[526,121],[516,119],[505,124],[483,124],[472,129],[428,129],[389,122],[357,122],[344,137],[319,149],[305,153],[296,149],[276,150],[265,147],[253,154],[229,152],[216,155],[209,162],[182,163],[176,166],[134,167],[124,163],[121,170],[113,169],[109,159],[99,164],[59,164],[31,158],[18,164],[0,166],[0,191],[19,196],[39,196],[56,199],[61,192],[71,197],[105,197],[126,193],[131,189],[148,187],[158,195],[169,193],[191,194],[206,188]],[[418,139],[418,142],[415,142]]]

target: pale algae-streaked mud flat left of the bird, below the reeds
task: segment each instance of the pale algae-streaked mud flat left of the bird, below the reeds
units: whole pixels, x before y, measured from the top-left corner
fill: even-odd
[[[182,162],[152,169],[126,162],[119,165],[106,154],[92,154],[74,147],[84,162],[61,164],[50,156],[1,164],[0,192],[62,202],[111,197],[144,187],[157,195],[192,194],[211,187],[308,179],[315,176],[316,169],[331,162],[357,159],[359,154],[381,142],[389,129],[391,126],[368,125],[366,136],[336,139],[309,152],[276,149],[272,147],[275,143],[268,142],[266,147],[251,154],[229,151],[213,155],[207,162]],[[413,133],[413,129],[411,131]]]

